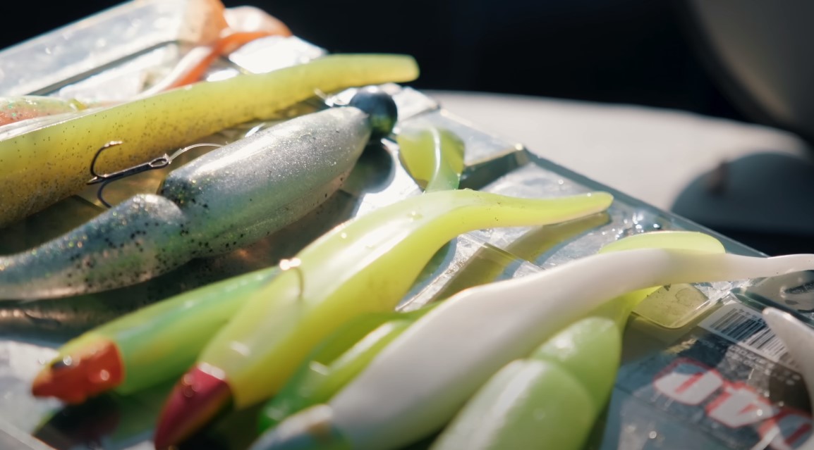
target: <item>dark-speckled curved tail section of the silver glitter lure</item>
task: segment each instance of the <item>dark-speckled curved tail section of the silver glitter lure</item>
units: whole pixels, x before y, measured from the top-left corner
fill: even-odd
[[[138,195],[55,240],[0,257],[0,298],[71,296],[149,279],[189,260],[177,251],[185,226],[172,201]]]

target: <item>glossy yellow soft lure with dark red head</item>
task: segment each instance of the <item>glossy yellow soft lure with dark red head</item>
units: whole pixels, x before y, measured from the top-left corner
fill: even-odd
[[[528,199],[443,191],[336,227],[281,265],[285,270],[212,338],[168,399],[157,447],[186,438],[230,400],[243,409],[273,396],[342,323],[394,309],[433,253],[458,234],[576,219],[611,201],[607,193]]]

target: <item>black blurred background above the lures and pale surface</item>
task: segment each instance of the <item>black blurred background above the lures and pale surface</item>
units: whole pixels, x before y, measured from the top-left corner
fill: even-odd
[[[0,6],[5,17],[28,18],[0,28],[0,48],[119,3]],[[332,52],[412,54],[422,67],[418,88],[625,102],[746,120],[703,67],[678,1],[224,3],[259,6]]]

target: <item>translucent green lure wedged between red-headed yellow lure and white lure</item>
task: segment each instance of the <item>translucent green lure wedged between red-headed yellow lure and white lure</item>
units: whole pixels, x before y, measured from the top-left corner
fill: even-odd
[[[396,336],[435,305],[407,313],[365,314],[331,333],[260,411],[260,433],[309,406],[330,400]]]

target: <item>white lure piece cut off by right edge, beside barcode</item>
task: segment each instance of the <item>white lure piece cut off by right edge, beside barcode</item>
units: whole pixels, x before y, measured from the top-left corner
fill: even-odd
[[[764,319],[774,334],[786,344],[791,357],[803,370],[803,380],[808,391],[808,400],[814,405],[814,330],[805,323],[800,322],[789,313],[779,309],[764,309]],[[803,445],[795,447],[796,450],[814,450],[814,435],[809,437]]]

